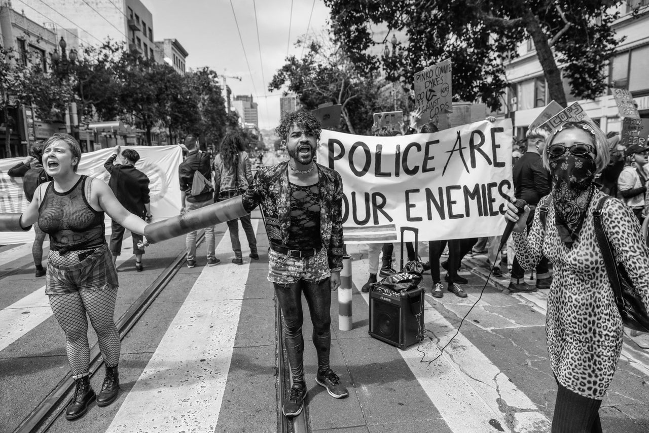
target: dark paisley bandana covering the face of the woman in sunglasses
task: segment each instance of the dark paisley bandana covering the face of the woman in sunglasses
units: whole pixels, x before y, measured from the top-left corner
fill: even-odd
[[[577,238],[593,196],[596,164],[591,155],[565,152],[550,157],[552,196],[561,240],[569,247]]]

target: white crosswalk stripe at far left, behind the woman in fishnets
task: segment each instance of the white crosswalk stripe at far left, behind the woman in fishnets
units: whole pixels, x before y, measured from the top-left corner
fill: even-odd
[[[31,250],[31,246],[30,246]],[[132,254],[132,241],[130,236],[125,237],[122,243],[121,256],[117,257],[117,266],[127,261]],[[39,287],[29,295],[0,310],[0,350],[36,328],[49,319],[52,309],[49,308],[49,299],[45,295],[45,286]]]

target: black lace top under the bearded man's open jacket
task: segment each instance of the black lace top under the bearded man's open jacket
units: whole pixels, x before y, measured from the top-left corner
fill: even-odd
[[[291,250],[320,248],[320,190],[318,184],[306,187],[289,183],[291,228],[286,246]]]

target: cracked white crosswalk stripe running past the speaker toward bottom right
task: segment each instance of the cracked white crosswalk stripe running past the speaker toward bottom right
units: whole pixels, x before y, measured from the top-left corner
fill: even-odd
[[[348,246],[348,252],[364,252],[364,244]],[[367,276],[367,259],[352,262],[352,280],[360,288]],[[369,294],[363,293],[369,304]],[[468,298],[467,302],[474,302]],[[426,327],[448,341],[455,328],[426,300]],[[444,332],[444,335],[441,335]],[[505,431],[548,431],[550,422],[522,391],[491,363],[469,339],[459,333],[445,354],[434,363],[420,362],[416,346],[397,350],[421,384],[422,389],[454,432],[495,431],[495,423]],[[439,354],[434,342],[426,339],[420,349],[432,360]]]

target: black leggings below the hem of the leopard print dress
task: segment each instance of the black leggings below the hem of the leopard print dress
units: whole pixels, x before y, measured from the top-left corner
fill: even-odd
[[[559,390],[554,404],[552,433],[602,433],[599,413],[602,400],[574,393],[558,380],[557,386]]]

